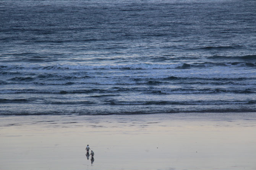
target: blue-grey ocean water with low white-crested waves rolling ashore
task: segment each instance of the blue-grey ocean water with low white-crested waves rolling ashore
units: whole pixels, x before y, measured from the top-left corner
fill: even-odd
[[[5,0],[0,25],[0,115],[256,111],[255,0]]]

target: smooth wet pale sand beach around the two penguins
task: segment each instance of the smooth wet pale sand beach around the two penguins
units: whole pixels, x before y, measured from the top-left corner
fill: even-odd
[[[256,113],[1,116],[0,125],[1,170],[256,168]]]

